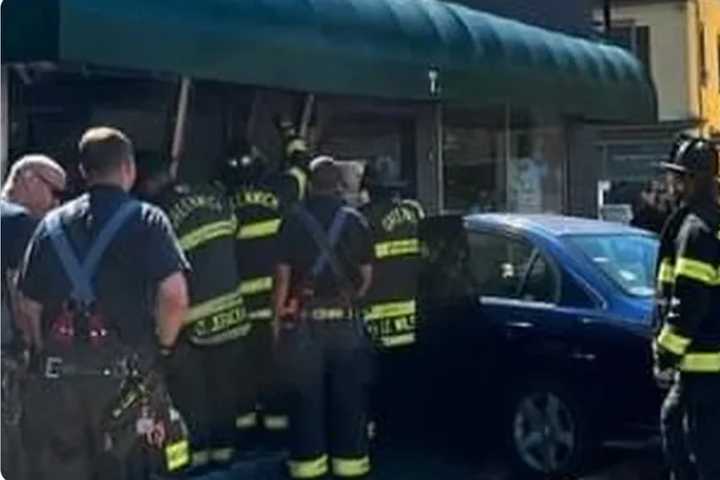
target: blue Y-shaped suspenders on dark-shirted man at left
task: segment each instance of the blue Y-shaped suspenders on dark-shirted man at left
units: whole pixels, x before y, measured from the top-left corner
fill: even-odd
[[[92,303],[95,300],[92,279],[95,276],[100,260],[120,228],[130,218],[130,215],[139,208],[140,203],[135,201],[126,202],[120,206],[103,225],[102,230],[91,243],[89,252],[82,264],[65,234],[60,211],[48,215],[46,220],[47,229],[65,270],[65,275],[67,275],[72,285],[70,297],[73,300],[84,304]]]

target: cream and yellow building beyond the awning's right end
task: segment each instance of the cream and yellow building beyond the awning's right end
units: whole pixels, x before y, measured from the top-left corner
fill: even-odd
[[[628,203],[658,175],[681,131],[720,138],[720,0],[611,0],[609,38],[651,72],[657,124],[607,128],[598,150],[603,188]],[[595,22],[603,29],[602,11]]]

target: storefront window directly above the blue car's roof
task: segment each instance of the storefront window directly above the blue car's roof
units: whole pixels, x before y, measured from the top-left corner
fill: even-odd
[[[558,121],[510,115],[510,122],[505,121],[504,109],[446,116],[443,160],[448,211],[563,211],[564,128]],[[475,120],[473,125],[473,118],[483,121]]]

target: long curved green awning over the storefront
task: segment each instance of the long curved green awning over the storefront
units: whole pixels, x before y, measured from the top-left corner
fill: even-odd
[[[626,51],[438,0],[5,0],[3,61],[653,121]],[[431,92],[430,72],[440,90]]]

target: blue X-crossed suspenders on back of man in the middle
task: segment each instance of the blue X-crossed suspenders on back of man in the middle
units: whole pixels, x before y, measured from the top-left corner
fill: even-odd
[[[302,205],[297,205],[295,211],[299,215],[305,227],[312,235],[315,244],[320,248],[320,256],[310,269],[313,278],[317,278],[326,265],[329,265],[335,276],[345,285],[351,285],[349,277],[345,269],[342,267],[340,260],[335,254],[335,246],[340,240],[340,234],[345,225],[348,216],[348,210],[344,207],[340,208],[333,218],[330,229],[326,233],[320,222],[313,217]]]

